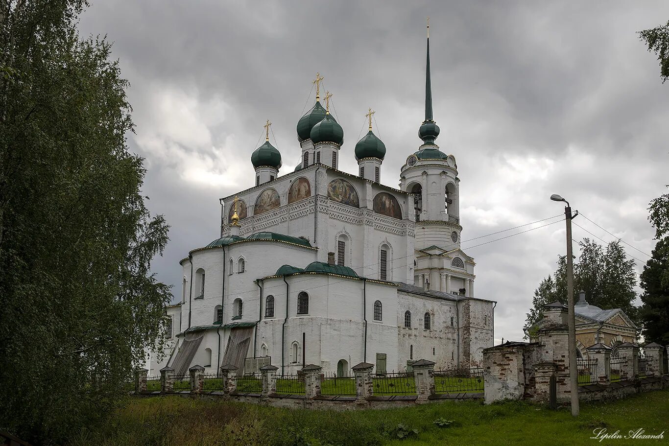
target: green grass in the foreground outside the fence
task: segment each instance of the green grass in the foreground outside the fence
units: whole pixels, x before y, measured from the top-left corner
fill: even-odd
[[[646,434],[669,431],[669,390],[583,403],[577,418],[568,408],[551,411],[518,401],[445,401],[365,411],[280,409],[180,397],[124,401],[112,419],[97,430],[77,433],[66,446],[572,446],[666,444],[669,437],[590,439],[597,427],[623,434],[640,428]]]

